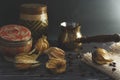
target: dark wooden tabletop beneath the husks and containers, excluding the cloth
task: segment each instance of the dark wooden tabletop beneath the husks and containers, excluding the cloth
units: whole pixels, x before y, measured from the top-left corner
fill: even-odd
[[[107,44],[83,44],[80,52],[93,51],[96,47],[106,47]],[[70,58],[70,57],[71,58]],[[38,68],[19,71],[14,67],[13,63],[0,57],[0,80],[113,80],[100,71],[80,62],[78,53],[74,51],[66,51],[67,70],[63,74],[51,74],[45,68],[47,56],[39,57],[41,65]],[[69,61],[72,61],[71,63]],[[70,63],[70,64],[69,64]]]

